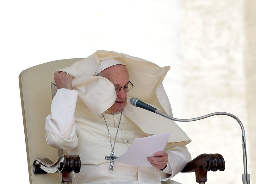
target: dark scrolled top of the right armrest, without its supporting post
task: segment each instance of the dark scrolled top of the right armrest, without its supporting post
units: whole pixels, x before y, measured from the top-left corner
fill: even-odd
[[[203,167],[205,172],[208,171],[224,171],[225,161],[221,154],[201,154],[195,159],[188,162],[181,173],[194,172],[197,167]]]

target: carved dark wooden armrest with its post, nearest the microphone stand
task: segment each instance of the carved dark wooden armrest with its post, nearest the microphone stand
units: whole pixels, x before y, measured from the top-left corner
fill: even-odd
[[[224,171],[225,161],[222,155],[216,154],[201,154],[195,159],[188,162],[181,173],[196,172],[196,182],[204,184],[207,181],[208,171]]]

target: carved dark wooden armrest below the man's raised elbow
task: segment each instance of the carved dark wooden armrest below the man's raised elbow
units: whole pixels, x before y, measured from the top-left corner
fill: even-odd
[[[60,158],[53,163],[49,159],[36,159],[34,161],[34,174],[60,173],[60,182],[71,182],[70,173],[80,172],[81,160],[79,155],[61,155]]]

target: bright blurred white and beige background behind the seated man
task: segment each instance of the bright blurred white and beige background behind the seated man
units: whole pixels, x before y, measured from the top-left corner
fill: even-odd
[[[248,173],[255,183],[255,8],[253,0],[1,1],[2,182],[29,183],[20,72],[110,50],[171,66],[164,87],[174,117],[216,111],[239,117],[247,136]],[[242,183],[242,136],[234,119],[177,124],[192,139],[192,158],[223,155],[225,171],[209,173],[208,184]],[[173,179],[196,183],[194,173]]]

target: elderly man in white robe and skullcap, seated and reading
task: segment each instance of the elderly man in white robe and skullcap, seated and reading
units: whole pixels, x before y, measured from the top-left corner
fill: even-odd
[[[46,117],[46,140],[80,156],[75,183],[174,183],[170,179],[191,160],[185,146],[191,140],[175,122],[127,103],[136,96],[172,116],[162,85],[169,69],[126,54],[97,51],[55,71],[57,93]],[[152,167],[109,162],[108,156],[121,156],[135,138],[168,131],[164,151],[148,157]]]

